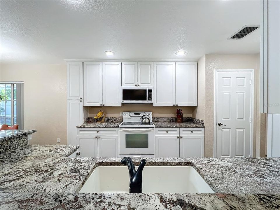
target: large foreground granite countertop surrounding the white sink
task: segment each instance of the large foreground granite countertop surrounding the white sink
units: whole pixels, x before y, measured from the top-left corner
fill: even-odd
[[[280,158],[146,158],[147,165],[194,167],[217,194],[78,193],[97,166],[121,165],[121,158],[67,157],[77,148],[78,145],[28,145],[1,155],[1,209],[276,209],[280,206]],[[141,159],[133,160],[137,165]]]

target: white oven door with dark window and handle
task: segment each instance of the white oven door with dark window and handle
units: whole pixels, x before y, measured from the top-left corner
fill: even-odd
[[[120,155],[155,154],[155,128],[120,128]]]

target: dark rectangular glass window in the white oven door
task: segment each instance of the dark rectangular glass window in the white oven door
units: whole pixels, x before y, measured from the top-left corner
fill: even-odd
[[[125,148],[148,148],[148,134],[125,134]]]

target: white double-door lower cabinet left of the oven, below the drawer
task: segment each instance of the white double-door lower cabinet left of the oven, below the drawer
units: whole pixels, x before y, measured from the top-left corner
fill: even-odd
[[[78,136],[80,157],[119,157],[119,136]]]

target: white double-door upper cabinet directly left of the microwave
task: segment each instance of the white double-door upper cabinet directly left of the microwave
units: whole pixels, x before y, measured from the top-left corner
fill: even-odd
[[[84,62],[84,106],[121,106],[121,63]]]

